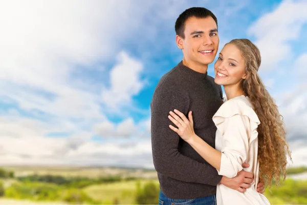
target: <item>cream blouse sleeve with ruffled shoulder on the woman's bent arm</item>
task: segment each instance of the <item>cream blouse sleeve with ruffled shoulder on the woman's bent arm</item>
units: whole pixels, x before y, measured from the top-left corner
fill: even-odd
[[[247,159],[251,142],[257,138],[260,121],[251,107],[239,100],[227,101],[213,116],[222,133],[222,158],[219,175],[233,178]]]

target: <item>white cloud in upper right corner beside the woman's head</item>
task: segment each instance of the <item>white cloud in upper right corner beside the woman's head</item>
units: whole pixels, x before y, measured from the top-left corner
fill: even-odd
[[[261,69],[272,70],[293,54],[290,40],[298,39],[307,23],[306,1],[283,1],[274,11],[261,16],[248,29],[261,52]]]

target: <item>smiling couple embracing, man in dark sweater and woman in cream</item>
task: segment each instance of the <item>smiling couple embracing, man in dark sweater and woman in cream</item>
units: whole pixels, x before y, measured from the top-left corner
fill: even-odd
[[[206,8],[185,10],[175,30],[183,60],[161,78],[150,105],[159,204],[270,204],[265,187],[286,177],[291,154],[257,73],[258,48],[233,39],[217,54],[217,19]],[[216,54],[213,78],[207,69]]]

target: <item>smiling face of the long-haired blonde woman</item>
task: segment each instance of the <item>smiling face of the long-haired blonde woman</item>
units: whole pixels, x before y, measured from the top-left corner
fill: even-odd
[[[215,83],[217,85],[239,85],[246,79],[245,60],[240,50],[233,44],[227,44],[218,55],[214,64]]]

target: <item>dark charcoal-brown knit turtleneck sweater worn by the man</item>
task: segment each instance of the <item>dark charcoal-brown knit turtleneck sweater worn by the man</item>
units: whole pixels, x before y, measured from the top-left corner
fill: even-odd
[[[221,86],[214,78],[193,71],[182,61],[161,78],[150,105],[151,145],[160,188],[167,197],[191,199],[216,193],[222,176],[169,129],[173,124],[167,116],[174,109],[186,116],[192,111],[195,133],[214,147],[216,127],[212,117],[222,98]]]

